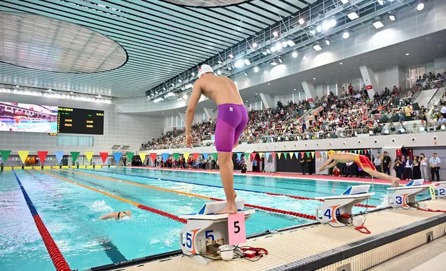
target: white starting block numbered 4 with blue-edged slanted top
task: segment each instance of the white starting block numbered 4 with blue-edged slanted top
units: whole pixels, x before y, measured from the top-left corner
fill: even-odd
[[[348,224],[353,206],[375,195],[375,193],[368,193],[368,189],[370,185],[355,185],[349,187],[340,196],[316,198],[325,200],[321,207],[316,208],[316,220],[324,224],[329,223],[334,227],[339,226],[339,223]],[[319,217],[319,211],[323,212],[323,216]]]

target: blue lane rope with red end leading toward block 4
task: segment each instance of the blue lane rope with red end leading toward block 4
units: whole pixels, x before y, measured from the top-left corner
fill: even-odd
[[[64,169],[60,169],[60,170],[64,170]],[[201,183],[190,183],[190,182],[186,182],[184,180],[169,180],[169,179],[163,179],[163,178],[154,178],[154,177],[148,177],[148,176],[139,176],[139,175],[132,175],[132,174],[124,174],[124,173],[116,173],[116,172],[107,172],[107,171],[100,171],[100,170],[91,170],[91,169],[80,169],[80,171],[96,171],[96,172],[102,172],[105,174],[118,174],[118,175],[124,175],[124,176],[132,176],[132,177],[139,177],[139,178],[147,178],[147,179],[152,179],[152,180],[164,180],[164,181],[168,181],[168,182],[173,182],[173,183],[187,183],[189,185],[199,185],[199,186],[206,186],[206,187],[216,187],[216,188],[223,188],[221,186],[218,185],[204,185]],[[74,172],[74,171],[73,171]],[[94,176],[96,177],[96,176]],[[159,188],[159,187],[157,187]],[[276,194],[276,193],[270,193],[270,192],[264,192],[264,191],[256,191],[256,190],[249,190],[249,189],[240,189],[240,188],[234,188],[237,191],[246,191],[246,192],[252,192],[252,193],[257,193],[257,194],[267,194],[269,196],[286,196],[288,198],[294,198],[297,200],[319,200],[319,201],[325,201],[325,200],[321,200],[321,199],[316,199],[316,198],[308,198],[305,196],[293,196],[293,195],[287,195],[287,194]],[[175,190],[172,190],[175,191]],[[176,191],[178,192],[178,191]],[[181,192],[183,193],[183,192]],[[196,195],[196,196],[200,196],[200,195]],[[375,205],[365,205],[365,204],[355,204],[356,207],[364,207],[364,208],[376,208]]]

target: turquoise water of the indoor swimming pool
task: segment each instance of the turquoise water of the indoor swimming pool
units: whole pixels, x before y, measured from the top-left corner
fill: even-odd
[[[66,261],[79,270],[179,249],[178,234],[183,223],[110,194],[174,215],[197,212],[209,201],[206,197],[224,198],[218,174],[113,167],[48,169],[46,174],[33,169],[15,172]],[[55,270],[14,173],[3,171],[0,183],[0,270]],[[354,184],[235,176],[238,196],[247,203],[310,215],[314,215],[319,201],[265,192],[313,198],[341,194]],[[374,185],[376,195],[368,200],[368,205],[380,205],[387,187]],[[98,221],[103,214],[127,209],[134,214],[130,221]],[[364,210],[355,207],[354,212]],[[309,222],[313,220],[256,209],[247,221],[247,234]]]

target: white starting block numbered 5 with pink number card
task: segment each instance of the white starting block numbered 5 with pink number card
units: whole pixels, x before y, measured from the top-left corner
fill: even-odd
[[[221,245],[237,245],[246,241],[244,221],[253,209],[243,210],[244,200],[235,200],[237,214],[214,214],[226,207],[225,201],[206,203],[197,214],[179,216],[188,220],[179,234],[179,245],[185,255],[193,258],[202,265],[207,265],[211,254],[216,254]],[[236,249],[235,252],[241,252]],[[206,258],[201,254],[206,255]]]

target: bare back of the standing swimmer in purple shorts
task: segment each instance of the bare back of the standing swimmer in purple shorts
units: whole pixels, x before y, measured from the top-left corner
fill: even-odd
[[[214,100],[217,105],[243,104],[237,86],[228,77],[206,73],[195,84],[198,84],[204,96]]]

